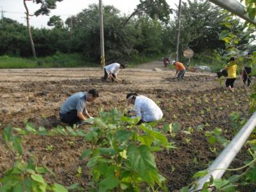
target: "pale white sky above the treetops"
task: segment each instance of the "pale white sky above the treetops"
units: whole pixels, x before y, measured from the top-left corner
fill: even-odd
[[[183,0],[184,1],[184,0]],[[102,0],[103,5],[113,5],[119,10],[121,13],[132,13],[134,8],[136,8],[137,4],[139,4],[139,0]],[[76,15],[84,8],[87,8],[89,4],[96,3],[98,4],[98,0],[63,0],[57,3],[57,8],[52,10],[50,16],[52,15],[61,15],[63,21],[66,20],[70,15]],[[171,8],[176,8],[176,4],[179,3],[179,0],[167,0],[167,3]],[[33,1],[27,1],[27,6],[29,8],[29,13],[33,14],[34,11],[38,10],[40,6]],[[23,0],[0,0],[0,15],[3,9],[4,17],[12,18],[13,20],[17,20],[18,22],[26,25],[25,19],[25,8],[23,4]],[[34,27],[47,27],[47,22],[49,17],[47,16],[34,16],[31,17],[30,22],[31,26]]]

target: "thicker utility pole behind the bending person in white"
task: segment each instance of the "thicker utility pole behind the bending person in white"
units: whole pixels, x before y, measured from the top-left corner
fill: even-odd
[[[99,0],[100,8],[100,64],[105,66],[105,52],[104,52],[104,29],[103,29],[103,13],[102,13],[102,0]]]

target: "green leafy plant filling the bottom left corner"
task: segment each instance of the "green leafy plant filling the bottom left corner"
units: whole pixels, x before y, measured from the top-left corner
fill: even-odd
[[[19,135],[13,134],[13,128],[5,128],[3,139],[0,138],[0,141],[15,159],[13,166],[4,172],[0,179],[0,191],[68,192],[68,189],[60,184],[47,184],[45,182],[41,174],[53,174],[48,168],[36,166],[32,158],[23,159],[22,139]],[[70,189],[74,189],[73,187],[71,186]]]

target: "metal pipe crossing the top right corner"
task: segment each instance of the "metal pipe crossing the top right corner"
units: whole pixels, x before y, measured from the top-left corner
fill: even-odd
[[[238,1],[236,0],[209,0],[209,1],[224,8],[225,10],[235,13],[237,16],[256,25],[256,20],[250,19],[250,17],[246,13],[245,6],[243,6],[243,4],[239,3]]]

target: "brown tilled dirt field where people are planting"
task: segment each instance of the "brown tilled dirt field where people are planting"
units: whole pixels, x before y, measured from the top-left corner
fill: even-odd
[[[59,108],[70,94],[95,88],[100,91],[100,98],[87,104],[88,112],[93,116],[97,116],[100,108],[125,108],[126,94],[136,91],[158,103],[165,122],[179,122],[184,130],[200,124],[206,124],[208,130],[219,127],[227,129],[226,136],[230,138],[230,112],[245,112],[247,109],[246,93],[239,80],[235,83],[238,89],[231,93],[215,81],[213,73],[188,72],[184,80],[176,80],[174,71],[164,68],[163,71],[153,71],[153,67],[162,68],[162,63],[120,71],[121,82],[118,84],[102,83],[103,71],[98,68],[0,70],[1,129],[8,124],[22,127],[24,119],[36,126],[52,128],[60,124]],[[190,138],[190,142],[186,142],[186,138]],[[215,159],[215,154],[210,151],[203,133],[179,133],[170,140],[176,142],[178,149],[158,152],[156,159],[160,172],[168,179],[169,191],[174,191],[189,184],[192,175]],[[73,145],[68,141],[73,141]],[[46,150],[47,145],[53,145],[52,151]],[[56,178],[49,175],[47,180],[65,186],[79,182],[85,187],[89,181],[86,161],[79,158],[86,147],[82,138],[24,138],[24,148],[34,155],[36,162],[52,168],[57,174]],[[10,154],[0,145],[0,177],[11,165],[10,159]],[[78,166],[83,168],[81,178],[75,176]],[[171,166],[175,168],[172,173]]]

